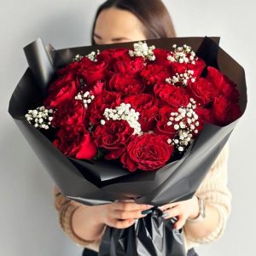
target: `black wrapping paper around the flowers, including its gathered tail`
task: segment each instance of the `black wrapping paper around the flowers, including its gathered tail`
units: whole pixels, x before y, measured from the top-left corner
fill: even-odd
[[[147,43],[170,50],[173,44],[191,46],[208,66],[217,67],[237,84],[241,95],[241,111],[244,113],[247,106],[244,70],[218,46],[218,40],[219,38],[163,38],[148,40]],[[132,198],[137,203],[153,204],[157,207],[167,202],[191,198],[239,121],[237,119],[224,127],[207,124],[180,160],[168,163],[157,172],[133,173],[126,172],[115,161],[87,161],[66,157],[53,146],[44,133],[26,121],[24,115],[27,110],[42,105],[47,87],[55,78],[57,68],[67,65],[78,54],[87,55],[96,49],[132,49],[133,43],[55,50],[52,47],[46,49],[42,40],[38,39],[24,49],[29,68],[11,96],[9,113],[61,193],[85,205]],[[149,214],[128,229],[108,228],[102,240],[100,255],[185,255],[183,242],[175,239],[177,233],[170,227],[172,225],[164,218]],[[182,241],[182,231],[179,236]],[[148,240],[147,237],[151,238]]]

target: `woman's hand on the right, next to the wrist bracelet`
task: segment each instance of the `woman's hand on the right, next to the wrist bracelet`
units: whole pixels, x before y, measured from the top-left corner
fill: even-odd
[[[177,230],[183,227],[187,218],[196,218],[199,214],[198,199],[195,195],[189,200],[166,204],[159,209],[163,212],[162,217],[165,219],[177,217],[177,222],[174,224]]]

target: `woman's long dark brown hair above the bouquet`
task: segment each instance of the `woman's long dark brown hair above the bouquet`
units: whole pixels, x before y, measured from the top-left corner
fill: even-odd
[[[94,31],[98,15],[104,9],[125,9],[142,21],[147,39],[175,38],[171,16],[161,0],[107,0],[97,9],[91,30],[91,44],[95,44]]]

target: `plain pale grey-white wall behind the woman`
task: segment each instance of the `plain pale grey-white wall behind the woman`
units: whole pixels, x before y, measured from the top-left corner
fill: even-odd
[[[222,239],[198,252],[205,256],[256,255],[255,1],[164,2],[178,36],[220,36],[220,45],[246,70],[247,113],[230,141],[232,214]],[[0,0],[0,255],[70,256],[82,251],[62,233],[54,207],[54,183],[7,109],[27,67],[23,47],[38,37],[55,49],[90,44],[90,26],[100,3]]]

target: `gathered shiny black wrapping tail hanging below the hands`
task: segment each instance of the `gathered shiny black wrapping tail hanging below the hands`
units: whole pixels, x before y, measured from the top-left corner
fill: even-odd
[[[185,256],[183,230],[176,230],[177,218],[162,218],[154,207],[127,229],[107,227],[99,256]]]

